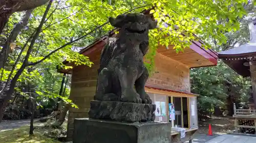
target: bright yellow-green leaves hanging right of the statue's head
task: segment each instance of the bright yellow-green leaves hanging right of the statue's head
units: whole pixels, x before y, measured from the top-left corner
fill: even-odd
[[[158,21],[161,30],[150,32],[151,53],[147,58],[154,64],[152,55],[158,44],[163,46],[174,45],[176,52],[189,47],[191,41],[215,39],[218,45],[226,43],[225,33],[240,29],[238,18],[247,14],[244,9],[247,1],[208,1],[208,0],[182,0],[146,1],[154,5],[151,10]],[[250,4],[251,5],[251,4]],[[150,8],[148,6],[147,8]],[[222,21],[221,23],[219,23]],[[166,23],[168,26],[165,26]],[[196,37],[196,34],[198,37]],[[169,35],[167,37],[163,37]],[[156,44],[158,43],[158,44]],[[209,43],[203,45],[210,48]],[[154,56],[153,56],[154,57]],[[153,65],[150,65],[152,69]]]

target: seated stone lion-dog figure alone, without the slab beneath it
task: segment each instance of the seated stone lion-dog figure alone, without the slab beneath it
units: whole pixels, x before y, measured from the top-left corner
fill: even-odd
[[[148,71],[143,56],[148,49],[148,30],[155,28],[157,22],[133,13],[111,17],[109,21],[120,28],[119,37],[102,50],[95,100],[151,104],[144,90]]]

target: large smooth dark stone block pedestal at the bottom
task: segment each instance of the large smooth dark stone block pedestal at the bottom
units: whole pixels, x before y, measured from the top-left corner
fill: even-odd
[[[73,143],[169,143],[171,124],[75,119]]]

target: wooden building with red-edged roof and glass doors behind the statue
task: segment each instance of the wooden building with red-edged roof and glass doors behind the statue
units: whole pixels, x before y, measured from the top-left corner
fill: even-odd
[[[114,36],[114,34],[113,34]],[[96,91],[97,70],[102,48],[107,36],[95,41],[80,51],[89,57],[94,64],[73,66],[73,69],[58,70],[60,73],[72,74],[70,99],[79,109],[69,108],[68,140],[72,140],[73,123],[76,118],[88,118],[90,101]],[[186,129],[186,136],[180,137],[180,132],[172,129],[172,142],[191,140],[198,130],[197,96],[190,92],[190,68],[217,65],[218,54],[211,49],[202,48],[202,41],[194,41],[184,52],[176,53],[173,46],[159,46],[155,56],[155,70],[147,80],[145,90],[150,95],[157,109],[155,121],[171,122],[172,127]],[[175,114],[170,115],[170,107],[174,105]],[[175,141],[176,140],[176,141]]]

